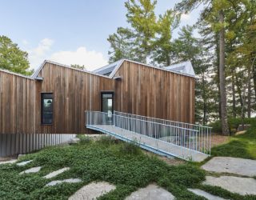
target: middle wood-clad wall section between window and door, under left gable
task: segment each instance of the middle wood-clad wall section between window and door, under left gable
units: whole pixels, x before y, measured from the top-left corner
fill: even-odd
[[[114,80],[46,63],[37,83],[38,133],[85,134],[85,110],[101,110],[101,90],[114,90]],[[41,93],[54,94],[53,125],[41,125]]]

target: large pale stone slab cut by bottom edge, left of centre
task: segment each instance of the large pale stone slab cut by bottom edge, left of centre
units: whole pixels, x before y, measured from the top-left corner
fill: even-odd
[[[109,193],[116,187],[109,182],[91,182],[90,184],[83,186],[75,194],[73,194],[69,200],[92,200],[96,199],[103,194]]]

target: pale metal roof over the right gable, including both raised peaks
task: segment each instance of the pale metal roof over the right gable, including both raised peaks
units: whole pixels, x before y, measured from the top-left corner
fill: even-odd
[[[137,64],[142,65],[142,66],[149,66],[149,67],[152,67],[152,68],[155,68],[155,69],[158,69],[158,70],[170,71],[170,72],[173,72],[175,74],[182,74],[182,75],[185,75],[185,76],[195,78],[194,69],[193,69],[193,66],[192,66],[190,61],[181,62],[181,63],[175,64],[175,65],[172,65],[172,66],[166,66],[166,67],[160,68],[160,67],[157,67],[157,66],[151,66],[151,65],[148,65],[148,64],[144,64],[142,62],[131,61],[131,60],[128,60],[128,59],[121,59],[121,60],[118,60],[117,62],[111,63],[110,65],[103,66],[101,68],[98,68],[97,70],[94,70],[94,73],[110,74],[109,77],[113,78],[114,74],[118,71],[119,67],[122,66],[122,63],[125,62],[125,61],[134,62],[134,63],[137,63]]]

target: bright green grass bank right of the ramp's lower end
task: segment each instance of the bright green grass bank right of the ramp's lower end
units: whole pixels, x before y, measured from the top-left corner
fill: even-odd
[[[252,124],[245,134],[230,137],[230,142],[214,146],[213,156],[229,156],[256,160],[256,125]]]

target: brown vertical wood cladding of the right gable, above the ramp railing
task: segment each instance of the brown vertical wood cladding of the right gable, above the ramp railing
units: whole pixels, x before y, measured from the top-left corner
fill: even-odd
[[[115,110],[194,123],[194,78],[127,61],[115,75]]]

